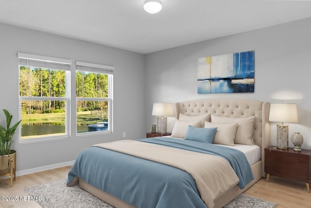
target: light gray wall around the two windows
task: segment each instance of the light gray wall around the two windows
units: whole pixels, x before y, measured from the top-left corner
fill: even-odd
[[[7,109],[13,114],[14,123],[18,120],[17,52],[115,66],[114,132],[86,137],[76,137],[75,132],[71,132],[69,139],[28,144],[18,143],[17,132],[12,145],[13,149],[17,150],[17,171],[75,160],[80,151],[93,144],[123,139],[122,132],[126,132],[126,139],[145,136],[145,115],[142,113],[145,107],[143,55],[2,23],[0,23],[0,125],[5,124],[2,109]]]

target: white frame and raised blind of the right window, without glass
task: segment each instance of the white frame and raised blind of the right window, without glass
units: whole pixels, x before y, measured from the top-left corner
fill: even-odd
[[[114,69],[115,69],[114,66],[76,61],[75,74],[77,71],[82,71],[82,72],[99,73],[99,74],[108,75],[108,97],[98,98],[98,97],[76,97],[75,96],[75,108],[74,109],[75,109],[76,137],[113,133],[113,116],[112,116],[113,104],[112,103],[113,103],[113,70]],[[107,101],[108,102],[108,130],[94,131],[94,132],[77,132],[77,102],[78,101]]]

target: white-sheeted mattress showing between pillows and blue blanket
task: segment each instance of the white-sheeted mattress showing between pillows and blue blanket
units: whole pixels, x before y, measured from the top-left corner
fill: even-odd
[[[165,137],[171,137],[171,136],[165,136]],[[176,137],[172,137],[176,138]],[[182,138],[176,138],[176,139],[182,139]],[[219,145],[219,144],[214,144]],[[239,151],[242,151],[246,159],[249,163],[249,165],[253,165],[257,163],[260,160],[260,147],[257,145],[241,145],[241,144],[234,144],[235,146],[228,146],[228,145],[219,145],[227,148],[236,149]]]

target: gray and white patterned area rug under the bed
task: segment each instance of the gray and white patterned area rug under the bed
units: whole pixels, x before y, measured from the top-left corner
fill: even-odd
[[[67,187],[66,180],[24,189],[43,208],[114,208],[79,186]],[[224,208],[274,208],[275,203],[241,194]]]

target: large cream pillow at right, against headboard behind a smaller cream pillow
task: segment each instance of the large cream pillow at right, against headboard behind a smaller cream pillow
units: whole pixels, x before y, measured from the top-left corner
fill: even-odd
[[[231,118],[224,116],[211,115],[211,122],[216,124],[238,123],[237,133],[235,134],[234,143],[243,145],[253,145],[253,131],[255,116],[246,118]]]

